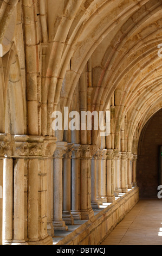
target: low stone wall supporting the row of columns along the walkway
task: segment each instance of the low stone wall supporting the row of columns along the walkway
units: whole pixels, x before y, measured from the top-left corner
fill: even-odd
[[[100,245],[138,200],[139,190],[134,187],[56,245]]]

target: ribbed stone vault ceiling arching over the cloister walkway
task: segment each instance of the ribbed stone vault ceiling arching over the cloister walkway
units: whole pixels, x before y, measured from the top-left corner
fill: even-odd
[[[11,17],[15,19],[16,4],[16,0],[12,4],[0,1],[3,44],[8,41],[10,45],[12,33],[7,28]],[[92,67],[92,111],[105,111],[114,95],[116,133],[127,117],[128,134],[133,137],[137,126],[141,129],[158,111],[162,92],[158,56],[161,4],[162,0],[55,0],[55,4],[48,0],[40,1],[38,14],[35,1],[22,1],[25,45],[32,46],[38,39],[44,45],[49,42],[42,82],[42,101],[49,113],[42,130],[47,126],[47,135],[52,133],[51,112],[57,106],[70,107],[87,62]],[[38,36],[39,26],[42,34]],[[29,35],[31,27],[35,32]]]

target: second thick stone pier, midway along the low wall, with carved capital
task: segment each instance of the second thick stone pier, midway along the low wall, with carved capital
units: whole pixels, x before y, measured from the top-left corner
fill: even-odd
[[[89,220],[94,216],[90,200],[90,168],[89,168],[89,145],[81,145],[80,147],[80,212],[81,220]]]

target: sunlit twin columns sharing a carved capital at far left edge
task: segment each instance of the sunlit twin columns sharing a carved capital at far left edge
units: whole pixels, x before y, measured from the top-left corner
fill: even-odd
[[[26,148],[23,148],[23,142],[26,138],[20,135],[1,134],[2,137],[4,137],[3,143],[7,143],[3,161],[3,244],[28,245],[24,239],[25,161],[23,153],[26,153]],[[18,144],[17,138],[21,141]]]

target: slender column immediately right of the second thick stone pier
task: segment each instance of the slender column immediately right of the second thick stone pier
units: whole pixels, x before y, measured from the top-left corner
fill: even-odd
[[[94,147],[94,146],[92,146]],[[96,151],[96,148],[95,148]],[[99,203],[97,200],[97,157],[98,154],[92,154],[92,164],[91,164],[91,205],[92,209],[99,209]]]

